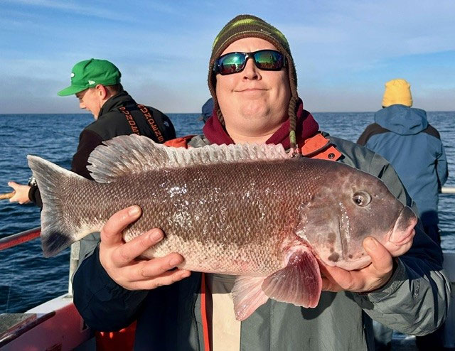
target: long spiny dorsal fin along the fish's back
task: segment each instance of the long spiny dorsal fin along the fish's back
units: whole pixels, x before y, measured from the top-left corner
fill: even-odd
[[[210,163],[277,160],[287,158],[282,145],[232,144],[208,145],[201,148],[173,148],[156,144],[146,136],[117,136],[95,148],[87,170],[100,183],[110,183],[133,173],[180,168]]]

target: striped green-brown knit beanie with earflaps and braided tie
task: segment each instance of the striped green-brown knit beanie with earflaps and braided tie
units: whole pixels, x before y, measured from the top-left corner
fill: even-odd
[[[297,74],[292,59],[289,43],[282,32],[277,28],[263,21],[261,18],[252,15],[240,15],[233,18],[226,24],[216,36],[212,45],[212,55],[208,65],[208,89],[213,97],[214,108],[218,119],[224,125],[223,114],[218,105],[216,98],[216,74],[214,72],[215,60],[228,46],[242,38],[261,38],[269,43],[272,43],[280,53],[286,57],[287,72],[289,77],[289,86],[291,87],[291,99],[289,100],[288,115],[290,121],[290,138],[291,146],[295,146],[295,130],[296,130],[296,107],[299,101],[297,95]]]

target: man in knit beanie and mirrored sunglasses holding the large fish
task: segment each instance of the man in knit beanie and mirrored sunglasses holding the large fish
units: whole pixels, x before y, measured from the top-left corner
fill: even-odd
[[[215,160],[220,156],[220,148],[213,146],[216,144],[237,144],[239,148],[239,144],[281,144],[296,156],[296,162],[305,157],[320,158],[375,175],[403,205],[412,206],[400,179],[384,158],[319,131],[299,97],[289,43],[277,28],[256,16],[233,18],[215,38],[208,66],[214,108],[203,134],[168,141],[167,145],[206,146],[217,156]],[[237,164],[232,163],[232,167]],[[273,215],[273,208],[256,200],[262,196],[261,190],[251,189],[255,195],[243,199],[255,204],[252,212],[259,211],[255,218]],[[250,194],[251,189],[245,193]],[[349,200],[368,205],[358,202],[354,186],[350,190]],[[304,205],[299,204],[297,196],[295,210],[299,211]],[[176,203],[183,202],[176,199]],[[191,203],[198,206],[196,201]],[[340,206],[347,211],[347,217],[338,218],[341,228],[334,225],[327,232],[314,233],[326,236],[328,243],[338,243],[332,247],[334,263],[339,257],[349,259],[345,248],[349,239],[345,242],[336,234],[349,222],[349,211]],[[200,213],[199,208],[194,210]],[[235,204],[229,203],[223,213],[226,217],[236,216],[236,210]],[[319,222],[327,222],[323,211],[318,213]],[[441,267],[439,248],[424,234],[420,223],[400,242],[390,239],[382,245],[373,237],[365,238],[363,247],[371,261],[362,269],[348,271],[318,259],[312,267],[321,274],[314,279],[321,278],[321,296],[317,306],[304,308],[299,301],[308,296],[311,284],[301,281],[304,274],[291,273],[294,269],[308,272],[304,255],[295,260],[289,255],[283,262],[286,273],[282,269],[269,277],[237,279],[190,272],[184,269],[186,257],[179,252],[141,259],[141,254],[154,245],[166,245],[167,233],[159,228],[151,228],[129,242],[122,240],[122,230],[140,216],[140,207],[127,207],[107,220],[100,232],[101,242],[82,239],[80,266],[73,276],[74,303],[90,328],[114,331],[137,320],[135,350],[374,350],[372,320],[404,333],[424,335],[446,317],[449,281]],[[202,223],[213,228],[210,219],[217,216],[220,219],[223,215],[209,213]],[[302,215],[300,225],[304,228],[305,220]],[[304,229],[292,225],[294,239],[304,240]],[[237,233],[240,242],[248,244],[243,236],[251,229]],[[201,238],[210,237],[204,234]],[[225,244],[229,245],[229,240]],[[208,261],[221,259],[216,244],[213,247],[213,257],[207,257]],[[193,249],[198,248],[196,244]],[[253,264],[241,252],[237,257],[237,264]],[[293,281],[283,279],[288,273]],[[274,293],[267,290],[275,279],[282,283],[277,292],[280,301],[269,298]]]

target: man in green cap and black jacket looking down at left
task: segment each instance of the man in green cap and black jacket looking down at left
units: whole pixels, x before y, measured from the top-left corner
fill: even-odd
[[[138,134],[148,136],[158,143],[176,137],[176,131],[166,114],[154,107],[137,104],[123,89],[122,73],[108,60],[90,58],[76,63],[71,70],[71,85],[57,94],[75,95],[79,107],[95,117],[79,136],[79,145],[73,156],[71,171],[92,179],[87,171],[90,153],[103,141],[114,136]],[[38,186],[8,183],[15,194],[10,202],[34,202],[42,207]]]

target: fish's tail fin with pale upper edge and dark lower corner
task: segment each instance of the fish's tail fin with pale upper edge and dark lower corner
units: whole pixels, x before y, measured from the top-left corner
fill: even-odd
[[[74,225],[65,218],[63,208],[68,201],[62,185],[68,177],[85,178],[38,156],[27,156],[28,166],[36,178],[41,193],[41,247],[45,257],[51,257],[80,239]]]

